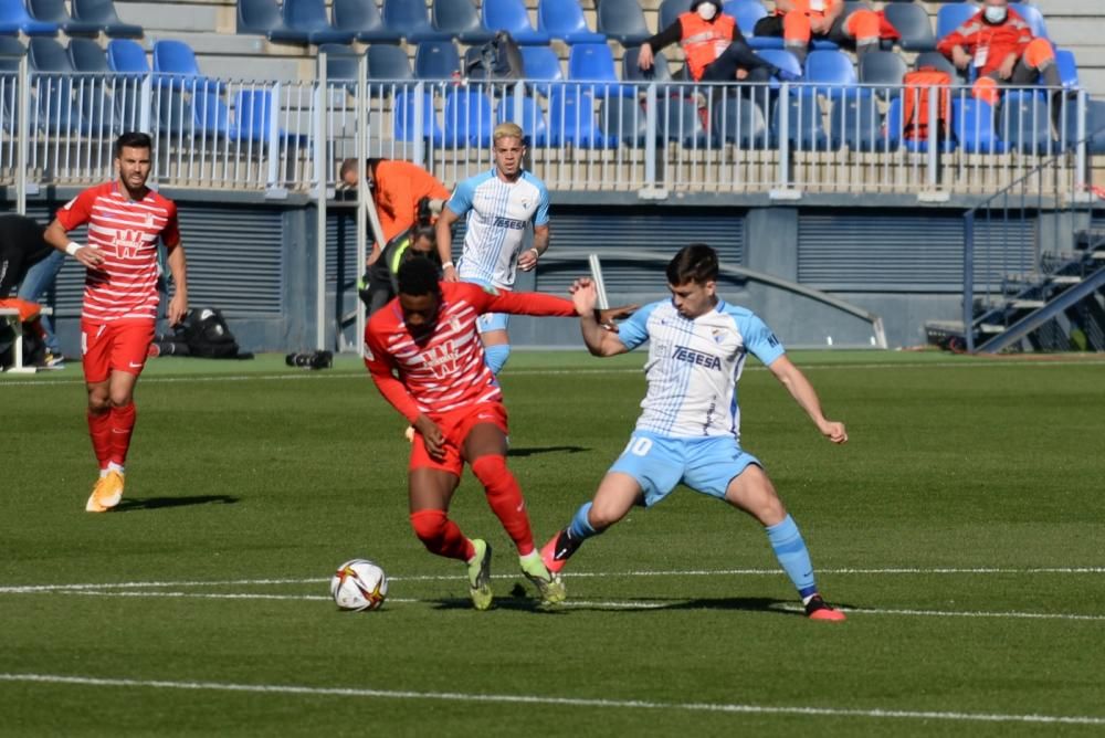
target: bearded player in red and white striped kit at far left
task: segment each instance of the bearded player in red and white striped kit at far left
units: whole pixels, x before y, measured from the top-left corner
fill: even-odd
[[[123,497],[124,473],[135,426],[134,389],[146,365],[157,320],[157,242],[176,287],[170,324],[188,312],[185,250],[177,207],[146,187],[152,143],[127,133],[115,143],[117,179],[88,188],[57,211],[46,241],[75,257],[87,274],[81,312],[81,351],[88,387],[88,432],[99,478],[85,509],[104,513]],[[88,243],[69,231],[88,224]]]

